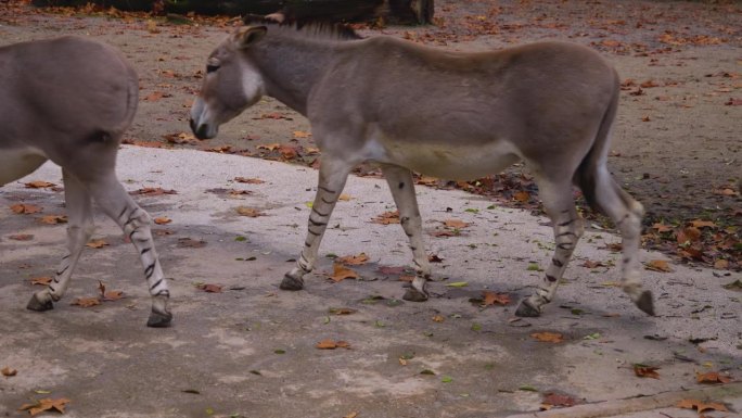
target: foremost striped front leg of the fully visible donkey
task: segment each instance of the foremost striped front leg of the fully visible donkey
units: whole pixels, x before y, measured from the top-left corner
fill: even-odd
[[[328,228],[330,216],[332,216],[337,198],[340,198],[353,167],[354,165],[340,159],[330,159],[327,155],[322,157],[317,194],[309,214],[304,249],[302,249],[302,254],[296,261],[296,266],[283,276],[280,284],[282,290],[302,290],[304,288],[304,276],[315,268],[319,245]]]

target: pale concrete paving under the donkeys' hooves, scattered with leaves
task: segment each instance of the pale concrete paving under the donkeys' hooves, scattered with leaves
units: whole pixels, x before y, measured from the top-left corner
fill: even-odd
[[[398,225],[370,221],[394,210],[391,194],[383,179],[351,178],[349,200],[335,210],[317,273],[305,291],[282,292],[278,283],[304,242],[316,172],[234,155],[125,147],[118,173],[130,190],[177,191],[137,197],[152,216],[172,219],[155,228],[155,240],[172,277],[174,327],[144,327],[150,301],[138,257],[104,218],[98,219],[95,238],[110,245],[86,250],[54,311],[27,312],[35,290],[29,279],[52,274],[65,237],[63,225],[38,218],[62,214],[63,197],[22,182],[3,187],[0,368],[17,375],[0,378],[0,416],[22,416],[16,408],[29,400],[67,397],[68,417],[504,417],[537,411],[549,392],[600,409],[704,388],[695,383],[696,372],[742,376],[741,294],[721,287],[740,274],[674,263],[671,273],[647,270],[660,313],[647,317],[614,286],[619,255],[606,244],[619,238],[591,230],[546,314],[514,320],[514,302],[539,280],[528,266],[551,257],[547,219],[464,192],[420,187],[426,231],[451,218],[471,225],[459,236],[428,237],[428,248],[443,258],[434,265],[440,279],[432,284],[435,297],[402,302],[402,283],[380,267],[410,263],[406,238]],[[238,183],[238,176],[265,182]],[[61,174],[44,165],[23,181],[35,179],[61,183]],[[235,199],[218,189],[251,194]],[[18,202],[43,212],[8,210]],[[266,216],[239,216],[238,206]],[[34,238],[9,238],[16,233]],[[183,239],[205,245],[191,248]],[[371,258],[357,268],[362,280],[328,281],[328,255],[361,252]],[[665,259],[649,252],[641,257]],[[583,267],[588,259],[609,267]],[[92,308],[69,305],[94,295],[98,280],[127,297]],[[446,286],[458,281],[466,286]],[[225,290],[205,293],[195,283]],[[507,292],[514,302],[472,304],[469,299],[483,290]],[[333,307],[357,312],[337,316]],[[438,315],[440,322],[433,320]],[[560,332],[565,342],[537,342],[530,333],[539,331]],[[347,341],[350,349],[316,349],[324,339]],[[660,379],[636,377],[636,363],[660,367]],[[708,400],[739,408],[739,385],[720,388],[728,392]],[[611,410],[605,413],[641,411]]]

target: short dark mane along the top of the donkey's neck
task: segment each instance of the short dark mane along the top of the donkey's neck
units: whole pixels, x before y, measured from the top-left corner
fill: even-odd
[[[358,35],[356,30],[342,23],[298,20],[278,23],[271,18],[256,15],[246,15],[243,17],[243,22],[246,25],[264,25],[268,27],[268,31],[278,29],[284,35],[299,38],[336,40],[362,39],[362,37]]]

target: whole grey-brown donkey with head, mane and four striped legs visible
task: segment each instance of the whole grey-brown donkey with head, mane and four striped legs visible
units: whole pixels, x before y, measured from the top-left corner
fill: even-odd
[[[431,266],[411,170],[474,179],[525,161],[553,224],[556,249],[543,282],[516,314],[540,315],[583,233],[573,185],[621,229],[623,289],[640,309],[654,314],[652,295],[639,279],[643,208],[605,166],[619,86],[598,53],[563,42],[461,53],[354,35],[322,26],[239,28],[209,55],[191,109],[199,138],[216,136],[219,125],[264,94],[309,118],[322,152],[319,186],[304,250],[281,289],[303,288],[348,174],[374,162],[392,189],[413,253],[417,277],[405,299],[426,300]]]

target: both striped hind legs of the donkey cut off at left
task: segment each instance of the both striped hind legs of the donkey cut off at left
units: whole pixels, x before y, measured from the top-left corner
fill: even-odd
[[[68,250],[69,254],[62,259],[54,282],[47,289],[36,293],[28,303],[28,308],[47,311],[53,307],[52,301],[59,301],[67,289],[72,270],[87,243],[91,227],[92,212],[90,197],[101,206],[108,217],[124,230],[140,254],[144,267],[144,276],[152,295],[152,313],[149,327],[167,327],[172,315],[168,311],[170,292],[164,278],[159,258],[154,248],[150,231],[150,216],[126,192],[113,173],[84,185],[65,170],[65,199],[69,216]]]

